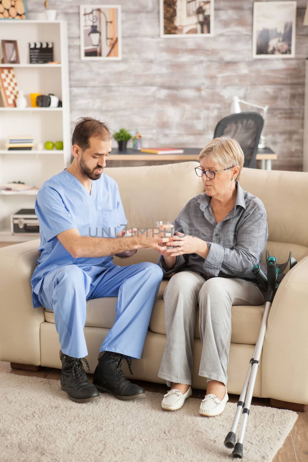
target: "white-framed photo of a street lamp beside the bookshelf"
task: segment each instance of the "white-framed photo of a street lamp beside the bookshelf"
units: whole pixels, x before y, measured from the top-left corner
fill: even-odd
[[[122,59],[121,6],[80,5],[80,59]]]

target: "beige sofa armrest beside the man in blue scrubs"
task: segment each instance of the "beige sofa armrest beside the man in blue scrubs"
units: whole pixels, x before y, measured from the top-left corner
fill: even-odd
[[[31,277],[40,241],[0,249],[0,359],[41,364],[40,324],[44,308],[34,309]]]

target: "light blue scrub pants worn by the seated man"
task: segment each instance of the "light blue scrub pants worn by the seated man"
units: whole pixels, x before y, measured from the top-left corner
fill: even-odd
[[[118,297],[115,323],[99,351],[140,359],[162,278],[162,269],[149,262],[98,267],[88,273],[77,265],[66,265],[45,276],[38,298],[42,306],[54,312],[62,353],[84,358],[88,354],[86,300]]]

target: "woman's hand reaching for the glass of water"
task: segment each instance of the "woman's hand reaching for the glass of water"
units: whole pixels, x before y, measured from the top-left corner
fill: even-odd
[[[179,231],[175,231],[176,235],[173,236],[172,241],[166,243],[167,250],[161,251],[161,255],[173,256],[183,254],[197,254],[207,257],[209,249],[207,243],[199,239],[199,237],[188,236]]]

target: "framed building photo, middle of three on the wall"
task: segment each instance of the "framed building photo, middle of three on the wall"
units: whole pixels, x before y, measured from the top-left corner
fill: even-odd
[[[160,36],[214,35],[214,0],[159,0]]]

